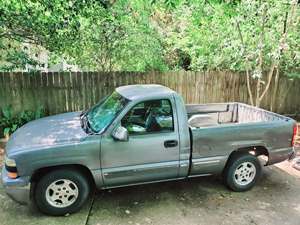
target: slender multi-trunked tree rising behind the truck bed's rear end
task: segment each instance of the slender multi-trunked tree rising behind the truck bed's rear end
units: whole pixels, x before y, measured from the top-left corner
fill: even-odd
[[[244,3],[241,3],[241,8],[243,7],[243,4]],[[257,52],[254,54],[254,60],[256,63],[254,64],[254,72],[252,74],[252,78],[256,80],[255,101],[253,99],[253,93],[251,90],[249,72],[249,69],[251,68],[251,66],[249,65],[249,57],[251,57],[251,52],[248,52],[248,46],[244,41],[244,33],[241,29],[241,21],[237,20],[236,25],[242,44],[242,52],[244,52],[245,69],[247,75],[247,88],[250,97],[250,102],[252,105],[259,107],[265,94],[269,90],[275,71],[275,90],[278,86],[279,65],[282,56],[288,47],[288,32],[290,31],[290,29],[292,30],[293,26],[296,26],[296,24],[294,24],[294,21],[296,18],[297,1],[291,1],[290,5],[287,8],[283,7],[282,5],[281,7],[276,5],[278,4],[276,2],[250,1],[246,2],[245,4],[245,8],[242,9],[244,10],[242,12],[244,13],[242,14],[244,15],[244,19],[249,19],[248,17],[246,17],[246,15],[251,16],[251,13],[249,12],[256,12],[257,20],[254,24],[257,27],[259,27],[259,29],[254,34],[257,37]],[[277,8],[273,9],[272,7]],[[279,11],[279,9],[285,10]],[[272,26],[274,26],[276,22],[279,21],[282,21],[281,23],[278,23],[282,25],[282,34],[280,34],[280,32],[274,32],[274,30],[272,30],[272,28],[278,29],[278,27]],[[266,31],[268,25],[269,31]],[[276,36],[274,34],[276,34]],[[268,46],[268,44],[271,45]],[[268,51],[267,55],[265,55],[265,51]],[[269,66],[266,81],[263,80],[263,71],[267,69],[266,65],[264,65],[264,61],[268,61],[265,64]]]

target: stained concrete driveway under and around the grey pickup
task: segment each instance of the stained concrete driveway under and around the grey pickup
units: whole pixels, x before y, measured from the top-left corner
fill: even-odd
[[[229,191],[218,177],[97,192],[79,213],[48,217],[13,202],[0,188],[1,225],[300,224],[300,172],[288,162],[265,167],[248,192]]]

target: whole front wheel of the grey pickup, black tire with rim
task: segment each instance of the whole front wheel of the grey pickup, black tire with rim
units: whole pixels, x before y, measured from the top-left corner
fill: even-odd
[[[71,169],[49,172],[36,184],[34,200],[45,214],[62,216],[78,211],[88,199],[90,185],[85,176]]]

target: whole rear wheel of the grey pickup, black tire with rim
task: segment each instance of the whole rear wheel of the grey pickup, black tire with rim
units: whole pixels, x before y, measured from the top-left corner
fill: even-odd
[[[230,159],[225,173],[225,184],[233,191],[250,190],[261,175],[261,165],[251,154],[238,155]]]

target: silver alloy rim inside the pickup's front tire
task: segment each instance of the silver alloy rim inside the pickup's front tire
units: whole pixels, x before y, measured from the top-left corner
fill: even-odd
[[[77,200],[78,193],[78,187],[73,181],[59,179],[52,182],[46,189],[46,200],[56,208],[65,208]]]

